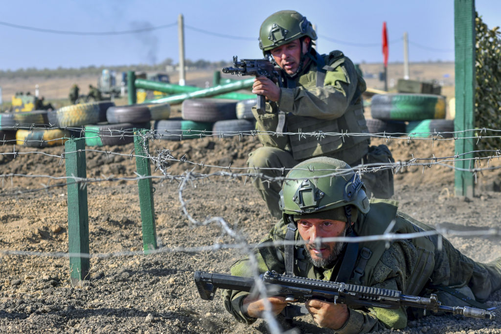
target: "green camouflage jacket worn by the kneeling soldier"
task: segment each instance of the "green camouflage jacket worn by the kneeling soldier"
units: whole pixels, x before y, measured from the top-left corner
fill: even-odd
[[[294,78],[286,76],[283,82],[279,101],[267,103],[265,114],[260,115],[253,109],[257,130],[368,132],[361,97],[366,89],[365,81],[342,52],[333,51],[329,55],[313,53],[299,75]],[[279,110],[286,115],[284,126],[280,122]],[[319,139],[315,136],[300,138],[297,135],[261,134],[259,138],[265,146],[292,151],[298,161],[319,155],[358,161],[367,153],[369,143],[365,136],[324,136]],[[350,149],[348,154],[338,154],[347,149]]]

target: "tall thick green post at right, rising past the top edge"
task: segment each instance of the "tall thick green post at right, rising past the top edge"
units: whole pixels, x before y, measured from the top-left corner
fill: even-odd
[[[455,98],[454,130],[473,129],[475,111],[475,1],[454,0]],[[460,132],[459,137],[473,137],[473,131]],[[473,151],[473,139],[457,139],[456,153]],[[456,168],[472,168],[473,153],[460,155]],[[466,160],[468,159],[468,160]],[[460,160],[460,161],[459,161]],[[473,174],[455,170],[456,196],[473,196]]]

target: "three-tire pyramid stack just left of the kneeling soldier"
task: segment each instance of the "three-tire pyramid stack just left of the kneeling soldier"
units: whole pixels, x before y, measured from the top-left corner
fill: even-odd
[[[181,118],[155,122],[155,137],[179,141],[211,134],[231,137],[254,130],[253,121],[237,118],[237,105],[236,101],[225,99],[185,100],[181,105]]]

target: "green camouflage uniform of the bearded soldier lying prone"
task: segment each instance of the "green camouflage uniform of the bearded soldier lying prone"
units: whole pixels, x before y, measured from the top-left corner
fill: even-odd
[[[369,213],[359,214],[354,225],[356,235],[371,235],[368,232],[375,230],[384,231],[384,228],[392,220],[396,222],[392,229],[395,233],[431,229],[429,226],[397,211],[397,205],[396,201],[372,199]],[[287,225],[280,221],[262,240],[267,245],[275,242],[277,246],[257,247],[254,250],[260,273],[267,270],[285,271],[283,241],[286,233]],[[298,241],[300,238],[299,233],[296,231],[295,240]],[[438,248],[437,244],[436,235],[395,240],[390,243],[389,248],[386,248],[385,241],[366,242],[365,245],[370,245],[369,247],[373,250],[374,256],[365,267],[365,274],[361,279],[362,285],[400,290],[407,294],[423,295],[431,291],[429,284],[432,282],[433,285],[455,287],[468,285],[475,293],[475,296],[490,293],[491,284],[489,279],[492,281],[492,279],[495,280],[498,277],[489,278],[489,273],[485,271],[481,263],[474,262],[462,255],[446,239],[442,239],[441,248]],[[361,243],[361,245],[364,245],[364,243]],[[304,256],[303,245],[297,244],[295,248],[295,275],[336,280],[339,263],[329,268],[314,267]],[[341,262],[341,260],[338,262]],[[428,262],[424,266],[425,269],[421,264],[423,262]],[[245,257],[231,266],[231,274],[250,277],[252,276],[252,268],[249,258]],[[352,278],[348,282],[353,283]],[[247,292],[234,290],[222,291],[225,308],[238,321],[250,324],[256,319],[249,318],[241,311],[243,298],[247,294]],[[337,332],[365,333],[384,328],[399,329],[407,325],[405,307],[399,309],[378,307],[355,309],[349,307],[349,312],[347,322]]]

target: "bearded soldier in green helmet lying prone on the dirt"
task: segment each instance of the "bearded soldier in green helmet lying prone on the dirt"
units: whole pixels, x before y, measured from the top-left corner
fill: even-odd
[[[299,163],[288,173],[280,198],[283,219],[262,240],[266,244],[254,251],[261,272],[275,270],[411,295],[437,293],[438,300],[450,306],[487,308],[479,306],[478,301],[501,288],[501,257],[489,264],[475,262],[446,239],[441,239],[440,247],[436,234],[388,244],[384,240],[319,240],[381,235],[388,229],[393,233],[433,230],[397,211],[397,201],[369,201],[364,184],[343,161],[316,157]],[[393,221],[393,227],[388,227]],[[295,244],[287,246],[284,240]],[[246,257],[231,266],[231,274],[252,276],[252,268]],[[223,300],[226,309],[241,322],[250,324],[263,316],[263,299],[252,299],[248,292],[223,290]],[[268,301],[274,314],[287,306],[285,297],[269,297]],[[415,316],[411,308],[347,307],[318,299],[306,301],[305,308],[319,326],[338,333],[400,329],[407,325],[408,316]]]

